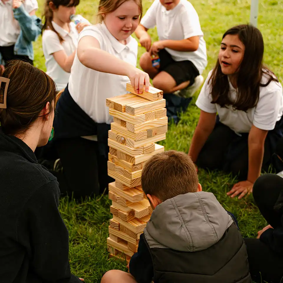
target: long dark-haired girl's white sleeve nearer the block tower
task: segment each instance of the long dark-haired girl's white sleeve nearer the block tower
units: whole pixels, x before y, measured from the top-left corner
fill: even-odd
[[[208,81],[211,77],[212,71],[208,73],[208,77],[206,78],[203,87],[200,91],[200,94],[198,96],[198,99],[195,103],[200,110],[208,112],[208,113],[216,113],[216,104],[211,103],[212,97],[211,97],[211,86],[208,84]]]

